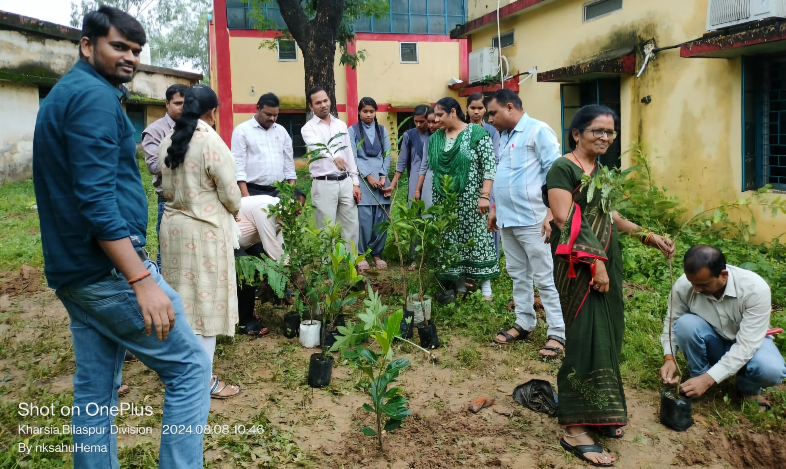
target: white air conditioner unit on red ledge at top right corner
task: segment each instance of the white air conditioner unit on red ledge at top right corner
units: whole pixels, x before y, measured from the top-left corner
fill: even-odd
[[[707,5],[707,31],[772,17],[786,17],[786,0],[710,0]]]

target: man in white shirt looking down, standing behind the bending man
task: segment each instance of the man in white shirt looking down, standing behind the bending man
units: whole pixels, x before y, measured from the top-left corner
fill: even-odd
[[[256,104],[256,114],[232,131],[232,156],[235,158],[237,186],[242,197],[277,195],[274,183],[288,180],[295,184],[292,137],[276,123],[278,98],[264,94]]]

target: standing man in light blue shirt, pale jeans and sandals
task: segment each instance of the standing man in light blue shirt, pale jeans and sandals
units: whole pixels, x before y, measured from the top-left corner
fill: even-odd
[[[545,175],[560,158],[556,133],[524,113],[521,100],[509,89],[491,96],[489,122],[500,133],[499,164],[494,177],[496,205],[489,212],[490,231],[501,231],[505,265],[513,281],[516,322],[494,337],[498,344],[525,339],[534,329],[534,289],[538,287],[549,336],[539,352],[559,356],[565,344],[560,296],[554,285],[554,264],[549,245],[551,213],[543,204]]]

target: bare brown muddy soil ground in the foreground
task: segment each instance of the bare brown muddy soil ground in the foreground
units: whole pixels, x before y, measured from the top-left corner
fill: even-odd
[[[30,275],[28,275],[30,277]],[[28,285],[34,282],[29,282]],[[13,282],[21,283],[14,279]],[[10,286],[10,285],[9,285]],[[16,292],[29,291],[16,288]],[[36,289],[38,285],[36,285]],[[6,292],[10,289],[6,289]],[[0,333],[17,353],[0,360],[2,402],[16,402],[30,387],[49,393],[72,389],[73,355],[70,349],[68,314],[53,292],[35,291],[6,297],[0,304]],[[267,308],[274,327],[281,311]],[[581,461],[559,447],[556,419],[534,413],[512,400],[514,387],[532,378],[556,382],[559,362],[533,358],[536,344],[516,343],[508,348],[473,344],[441,331],[446,344],[439,360],[428,362],[423,354],[403,344],[399,356],[412,362],[401,383],[414,416],[398,430],[384,435],[386,451],[380,453],[376,438],[358,431],[373,426],[373,418],[361,406],[367,402],[364,381],[357,370],[336,354],[329,387],[312,390],[306,376],[310,354],[296,339],[275,332],[258,340],[237,336],[222,338],[217,347],[214,372],[230,383],[240,384],[235,398],[213,400],[210,423],[244,424],[264,413],[281,439],[266,440],[266,448],[245,449],[232,436],[206,437],[209,467],[267,467],[271,455],[289,455],[278,467],[369,467],[422,469],[449,467],[583,467]],[[20,352],[21,350],[21,352]],[[35,362],[31,365],[31,361]],[[127,364],[123,380],[131,391],[121,402],[152,405],[160,413],[163,386],[155,373],[139,362]],[[2,394],[2,393],[0,393]],[[469,402],[479,396],[495,398],[496,404],[469,413]],[[782,434],[758,434],[744,422],[718,427],[702,415],[711,413],[699,402],[696,424],[678,433],[659,424],[659,394],[627,391],[630,425],[621,440],[601,442],[617,456],[616,467],[666,469],[668,467],[786,467],[786,438]],[[160,420],[134,420],[123,424],[153,424]],[[24,424],[24,422],[19,422]],[[16,428],[4,431],[15,432]],[[2,434],[2,431],[0,431]],[[227,439],[229,438],[229,439]],[[157,434],[120,435],[119,446],[151,442]],[[259,454],[260,459],[248,459]],[[252,456],[255,457],[255,456]],[[243,460],[246,458],[246,460]],[[266,462],[267,461],[267,462]]]

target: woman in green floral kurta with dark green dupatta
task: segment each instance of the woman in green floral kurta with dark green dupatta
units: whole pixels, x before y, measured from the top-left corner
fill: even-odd
[[[443,176],[453,179],[450,189],[458,195],[458,228],[448,234],[448,242],[461,246],[461,261],[435,274],[441,281],[457,282],[465,290],[465,279],[480,282],[487,301],[491,300],[491,279],[499,277],[494,236],[487,229],[491,185],[497,173],[494,144],[482,125],[465,123],[464,112],[453,98],[443,98],[434,106],[435,122],[441,125],[428,140],[428,168],[434,172],[432,202],[442,204],[446,187]],[[423,185],[418,181],[417,190]],[[472,242],[467,245],[467,242]]]

